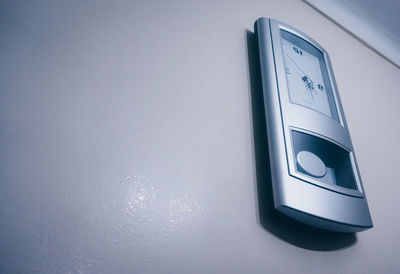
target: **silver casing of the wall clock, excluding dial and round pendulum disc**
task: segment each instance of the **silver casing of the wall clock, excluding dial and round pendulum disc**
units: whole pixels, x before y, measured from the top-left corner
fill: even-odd
[[[282,31],[323,54],[336,119],[290,101]],[[273,19],[255,22],[275,208],[308,225],[336,232],[371,228],[361,177],[327,52],[295,28]],[[316,178],[297,162],[299,151],[317,155],[327,174]]]

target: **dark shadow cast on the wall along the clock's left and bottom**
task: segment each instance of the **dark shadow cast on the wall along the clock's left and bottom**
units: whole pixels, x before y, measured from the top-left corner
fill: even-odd
[[[355,233],[335,233],[319,230],[297,222],[275,210],[256,35],[245,29],[245,39],[247,42],[253,117],[258,216],[261,226],[276,237],[309,250],[338,250],[354,245],[357,243]]]

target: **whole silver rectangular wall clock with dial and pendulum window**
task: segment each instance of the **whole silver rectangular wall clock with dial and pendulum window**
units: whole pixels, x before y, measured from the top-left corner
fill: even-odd
[[[339,232],[372,227],[327,52],[276,20],[255,23],[275,208]]]

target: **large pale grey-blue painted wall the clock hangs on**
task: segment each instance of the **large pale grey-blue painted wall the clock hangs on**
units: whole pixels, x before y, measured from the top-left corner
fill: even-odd
[[[310,6],[5,2],[0,272],[398,273],[400,71]],[[261,16],[330,53],[373,229],[263,210]]]

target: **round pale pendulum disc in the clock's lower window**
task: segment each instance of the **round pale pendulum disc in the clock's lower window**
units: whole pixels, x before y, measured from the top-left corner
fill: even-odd
[[[297,153],[297,163],[305,171],[305,173],[314,177],[324,177],[326,174],[326,166],[322,160],[309,151],[300,151]]]

